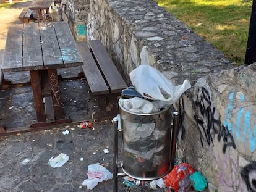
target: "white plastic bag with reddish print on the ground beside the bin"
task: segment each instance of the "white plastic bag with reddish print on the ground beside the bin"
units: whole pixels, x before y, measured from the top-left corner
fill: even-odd
[[[88,166],[87,176],[88,179],[84,180],[82,185],[87,186],[88,190],[95,188],[99,182],[113,178],[113,174],[109,172],[108,169],[98,164],[92,164]]]

